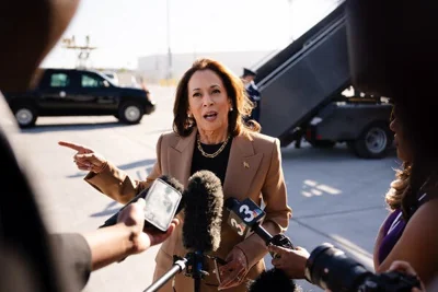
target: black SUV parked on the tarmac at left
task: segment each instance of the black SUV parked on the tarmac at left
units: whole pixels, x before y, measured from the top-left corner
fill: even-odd
[[[155,109],[150,93],[117,86],[92,70],[43,69],[38,84],[23,93],[3,92],[20,127],[32,127],[38,116],[113,115],[125,124],[140,122]]]

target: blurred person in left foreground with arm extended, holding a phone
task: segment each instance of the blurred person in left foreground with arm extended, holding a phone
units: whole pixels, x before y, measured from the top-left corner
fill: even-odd
[[[76,13],[74,0],[0,1],[0,90],[23,91]],[[28,46],[32,44],[32,46]],[[80,291],[90,272],[148,249],[170,236],[145,233],[145,200],[129,206],[114,226],[50,233],[38,206],[36,182],[10,135],[15,119],[0,93],[0,160],[7,168],[0,196],[0,291]]]

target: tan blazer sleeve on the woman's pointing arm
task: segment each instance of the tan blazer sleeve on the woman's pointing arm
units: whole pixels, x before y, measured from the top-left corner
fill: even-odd
[[[157,142],[157,162],[146,180],[131,179],[126,172],[108,162],[108,165],[99,174],[90,172],[84,180],[108,196],[113,200],[127,203],[141,190],[148,188],[161,175],[160,151],[163,136]]]

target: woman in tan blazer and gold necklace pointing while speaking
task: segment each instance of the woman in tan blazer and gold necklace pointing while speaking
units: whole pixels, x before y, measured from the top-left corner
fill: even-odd
[[[224,199],[251,198],[265,203],[263,226],[272,234],[284,232],[291,215],[281,170],[278,139],[261,135],[256,121],[245,124],[252,104],[242,81],[221,63],[200,59],[183,75],[174,103],[172,132],[163,133],[157,143],[157,163],[145,182],[134,180],[93,150],[60,142],[78,151],[74,161],[80,170],[89,170],[85,180],[99,191],[126,203],[148,188],[161,175],[170,175],[184,186],[188,177],[200,170],[214,172],[221,180]],[[247,280],[265,269],[267,248],[256,234],[239,236],[228,224],[223,211],[221,243],[214,256],[226,259],[219,268],[221,282],[207,262],[207,276],[200,291],[246,291]],[[165,241],[155,258],[153,280],[158,280],[173,265],[173,255],[185,256],[182,224]],[[177,292],[194,291],[193,279],[177,275]],[[160,291],[173,291],[172,281]]]

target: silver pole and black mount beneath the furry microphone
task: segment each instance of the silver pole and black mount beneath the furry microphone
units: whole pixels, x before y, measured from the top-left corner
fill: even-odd
[[[195,292],[200,291],[200,280],[204,279],[205,276],[208,276],[208,272],[203,270],[204,268],[204,258],[205,255],[203,252],[192,252],[187,253],[185,257],[173,256],[174,265],[172,268],[166,271],[163,276],[160,277],[154,283],[148,287],[143,292],[154,292],[162,288],[169,280],[171,280],[176,273],[185,271],[185,276],[192,277],[195,281]]]

